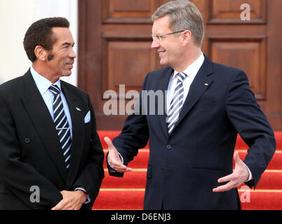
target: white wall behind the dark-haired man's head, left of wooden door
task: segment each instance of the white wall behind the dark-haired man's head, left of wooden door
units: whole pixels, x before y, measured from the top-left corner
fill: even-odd
[[[78,48],[78,0],[1,0],[0,1],[0,84],[22,76],[31,62],[23,48],[23,38],[28,27],[41,18],[62,16],[69,20],[74,42]],[[77,85],[77,58],[72,76],[64,77]]]

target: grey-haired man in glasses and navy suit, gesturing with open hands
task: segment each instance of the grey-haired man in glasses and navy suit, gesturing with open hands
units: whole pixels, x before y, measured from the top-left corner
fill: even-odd
[[[147,74],[139,110],[113,144],[105,137],[109,174],[130,171],[149,140],[144,209],[241,209],[237,187],[257,185],[274,155],[274,132],[246,74],[201,52],[203,19],[193,3],[166,3],[152,20],[152,48],[166,67]],[[149,91],[166,94],[165,102],[149,104]],[[163,115],[150,114],[162,107]],[[250,147],[244,161],[234,153],[238,133]]]

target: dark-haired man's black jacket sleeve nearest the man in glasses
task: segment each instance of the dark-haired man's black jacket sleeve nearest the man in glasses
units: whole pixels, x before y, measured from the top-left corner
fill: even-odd
[[[102,179],[104,178],[104,151],[96,130],[96,120],[93,107],[88,97],[88,106],[91,114],[91,135],[90,135],[90,153],[88,155],[88,162],[85,169],[79,175],[78,179],[74,183],[75,188],[84,188],[90,197],[90,203],[84,204],[85,207],[92,207],[96,197],[98,196]],[[74,190],[73,189],[73,190]]]

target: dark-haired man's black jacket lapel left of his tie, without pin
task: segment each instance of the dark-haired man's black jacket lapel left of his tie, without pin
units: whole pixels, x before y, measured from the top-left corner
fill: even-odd
[[[65,162],[62,155],[62,148],[60,146],[57,131],[55,130],[53,119],[36,87],[30,71],[27,71],[23,78],[25,81],[26,95],[22,97],[22,102],[34,123],[34,127],[39,133],[43,144],[46,146],[46,150],[57,167],[58,173],[63,181],[65,181],[67,177],[67,169],[64,165]]]

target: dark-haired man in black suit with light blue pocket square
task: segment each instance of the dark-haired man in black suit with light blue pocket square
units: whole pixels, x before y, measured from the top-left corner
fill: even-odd
[[[86,92],[60,80],[76,54],[65,18],[34,22],[32,67],[0,86],[0,209],[91,209],[104,153]]]

